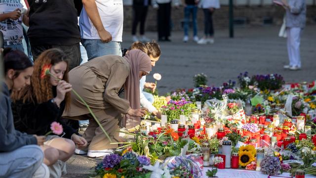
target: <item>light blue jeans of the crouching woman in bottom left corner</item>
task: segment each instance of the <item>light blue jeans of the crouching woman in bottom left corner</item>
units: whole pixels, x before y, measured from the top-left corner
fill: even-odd
[[[0,178],[32,178],[44,159],[38,145],[26,145],[0,152]]]

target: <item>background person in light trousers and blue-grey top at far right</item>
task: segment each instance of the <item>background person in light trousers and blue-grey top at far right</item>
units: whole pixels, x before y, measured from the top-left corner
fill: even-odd
[[[289,65],[284,69],[300,70],[300,43],[302,30],[306,24],[306,0],[282,0],[286,9],[285,24]]]

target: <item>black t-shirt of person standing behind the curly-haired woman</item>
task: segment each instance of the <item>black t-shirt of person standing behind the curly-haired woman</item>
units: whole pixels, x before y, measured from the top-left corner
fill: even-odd
[[[31,45],[75,45],[80,42],[74,0],[28,0]]]

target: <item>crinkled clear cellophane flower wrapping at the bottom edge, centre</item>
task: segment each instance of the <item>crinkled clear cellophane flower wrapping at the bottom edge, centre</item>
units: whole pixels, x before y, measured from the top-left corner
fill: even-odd
[[[203,160],[197,154],[190,154],[186,156],[172,156],[164,160],[160,165],[162,170],[169,170],[171,176],[180,176],[181,178],[201,178],[201,165]],[[179,170],[180,169],[180,170]],[[181,175],[175,175],[181,172]]]

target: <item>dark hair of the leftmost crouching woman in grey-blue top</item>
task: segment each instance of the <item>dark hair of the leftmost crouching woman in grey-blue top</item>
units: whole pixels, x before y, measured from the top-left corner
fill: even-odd
[[[10,69],[15,70],[13,79],[17,78],[23,70],[33,66],[33,62],[24,52],[9,47],[3,50],[3,64],[4,76]]]

